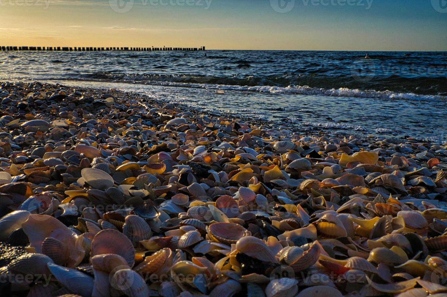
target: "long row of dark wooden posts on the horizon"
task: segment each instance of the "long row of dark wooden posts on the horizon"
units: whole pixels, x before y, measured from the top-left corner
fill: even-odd
[[[0,51],[205,51],[205,47],[5,47]]]

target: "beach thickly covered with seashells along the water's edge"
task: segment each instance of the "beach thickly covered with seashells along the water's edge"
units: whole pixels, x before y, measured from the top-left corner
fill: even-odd
[[[5,296],[447,294],[445,140],[40,82],[0,102]]]

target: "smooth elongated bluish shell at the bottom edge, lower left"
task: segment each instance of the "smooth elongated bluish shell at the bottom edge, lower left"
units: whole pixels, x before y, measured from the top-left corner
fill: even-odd
[[[93,292],[93,277],[79,270],[59,266],[54,263],[47,264],[51,274],[63,284],[70,292],[81,296],[91,296]]]

